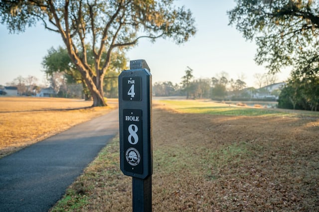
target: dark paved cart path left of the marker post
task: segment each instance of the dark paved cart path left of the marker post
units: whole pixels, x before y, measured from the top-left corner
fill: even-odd
[[[0,212],[45,212],[119,131],[118,110],[0,159]]]

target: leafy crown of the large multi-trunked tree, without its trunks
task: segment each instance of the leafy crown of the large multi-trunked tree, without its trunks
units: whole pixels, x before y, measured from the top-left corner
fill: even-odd
[[[93,45],[125,46],[141,37],[171,37],[183,43],[196,31],[194,19],[189,9],[175,8],[173,1],[2,0],[0,14],[11,32],[24,31],[40,20],[45,28],[69,33],[79,42],[93,39]],[[139,32],[144,35],[139,37]]]

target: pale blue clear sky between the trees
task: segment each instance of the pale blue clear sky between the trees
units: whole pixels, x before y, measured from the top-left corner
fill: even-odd
[[[187,43],[176,45],[171,40],[155,43],[141,40],[127,56],[130,60],[145,59],[154,82],[181,82],[186,67],[193,69],[195,78],[211,78],[227,72],[234,80],[244,77],[247,86],[255,86],[255,73],[266,73],[254,62],[256,45],[246,41],[234,26],[228,25],[227,10],[233,0],[177,0],[177,5],[190,8],[195,17],[197,33]],[[35,76],[44,82],[41,66],[50,47],[63,46],[59,34],[45,30],[41,24],[19,34],[9,34],[0,25],[0,85],[18,76]],[[289,71],[278,74],[279,81],[288,78]]]

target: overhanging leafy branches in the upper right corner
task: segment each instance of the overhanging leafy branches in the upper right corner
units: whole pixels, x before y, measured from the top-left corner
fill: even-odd
[[[293,66],[299,76],[318,75],[318,0],[236,0],[230,24],[255,39],[257,64],[272,72]]]

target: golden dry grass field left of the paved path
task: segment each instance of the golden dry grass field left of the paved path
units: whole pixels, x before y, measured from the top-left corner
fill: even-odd
[[[117,106],[90,107],[91,101],[34,98],[0,98],[0,157],[43,140],[71,126],[107,113]]]

